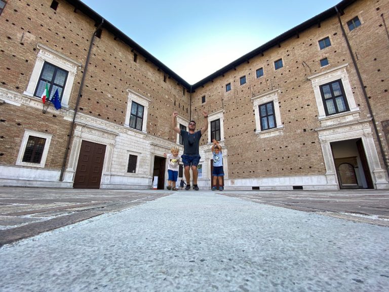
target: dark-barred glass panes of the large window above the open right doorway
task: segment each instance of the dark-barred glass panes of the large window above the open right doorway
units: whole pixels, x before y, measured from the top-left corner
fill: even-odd
[[[336,80],[320,86],[326,115],[334,115],[349,111],[342,81]]]

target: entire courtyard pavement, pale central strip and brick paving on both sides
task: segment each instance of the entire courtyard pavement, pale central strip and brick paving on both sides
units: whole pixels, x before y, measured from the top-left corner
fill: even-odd
[[[387,291],[388,218],[378,190],[0,188],[0,291]]]

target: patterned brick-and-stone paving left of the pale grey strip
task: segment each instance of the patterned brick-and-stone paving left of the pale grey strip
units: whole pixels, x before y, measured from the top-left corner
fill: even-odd
[[[168,194],[151,190],[0,187],[0,246]]]

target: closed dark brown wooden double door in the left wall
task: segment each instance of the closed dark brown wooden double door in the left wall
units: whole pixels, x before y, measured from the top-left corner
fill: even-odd
[[[105,145],[83,140],[74,175],[74,189],[100,189]]]

